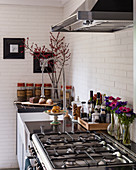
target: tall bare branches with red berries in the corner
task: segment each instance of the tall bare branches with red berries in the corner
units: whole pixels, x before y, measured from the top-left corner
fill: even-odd
[[[50,57],[50,54],[52,54],[51,57],[53,57],[53,61],[48,62],[48,65],[51,68],[51,73],[49,72],[47,67],[45,67],[45,69],[54,88],[58,87],[62,70],[64,66],[68,65],[67,62],[69,61],[71,56],[69,44],[64,43],[64,40],[64,36],[60,38],[60,32],[57,34],[56,37],[50,32],[50,49],[46,48],[45,45],[40,47],[34,42],[29,45],[29,38],[27,38],[26,42],[24,41],[25,49],[29,50],[30,54],[38,60],[40,60],[41,58],[47,59]]]

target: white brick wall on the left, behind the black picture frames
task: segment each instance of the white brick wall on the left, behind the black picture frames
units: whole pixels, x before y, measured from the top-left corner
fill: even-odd
[[[0,169],[16,168],[17,82],[41,83],[41,74],[33,74],[32,57],[3,59],[3,38],[26,38],[49,44],[50,27],[62,19],[62,9],[53,7],[0,5]],[[45,81],[49,82],[45,75]]]

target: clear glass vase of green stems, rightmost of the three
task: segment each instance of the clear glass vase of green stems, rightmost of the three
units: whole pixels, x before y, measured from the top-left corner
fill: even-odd
[[[123,124],[123,144],[131,145],[130,141],[130,124]]]

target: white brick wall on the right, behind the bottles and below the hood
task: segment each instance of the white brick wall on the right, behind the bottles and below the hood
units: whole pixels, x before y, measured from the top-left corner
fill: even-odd
[[[64,18],[77,1],[64,7]],[[81,1],[80,1],[81,2]],[[74,11],[74,9],[72,8]],[[89,90],[119,96],[133,104],[133,29],[116,33],[66,33],[72,57],[67,67],[67,84],[75,87],[80,100]],[[135,121],[136,122],[136,121]],[[134,123],[136,126],[136,123]],[[134,131],[131,138],[136,142]]]

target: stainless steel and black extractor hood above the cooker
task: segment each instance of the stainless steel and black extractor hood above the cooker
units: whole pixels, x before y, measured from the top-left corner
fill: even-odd
[[[85,0],[53,32],[115,32],[133,26],[133,0]]]

